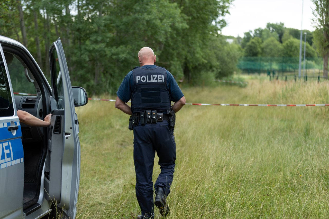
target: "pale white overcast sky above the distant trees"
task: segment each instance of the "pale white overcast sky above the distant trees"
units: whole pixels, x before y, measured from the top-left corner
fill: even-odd
[[[303,26],[302,26],[302,5]],[[284,23],[285,27],[314,31],[311,0],[234,0],[225,16],[227,26],[222,29],[226,36],[243,37],[244,32],[264,29],[267,23]]]

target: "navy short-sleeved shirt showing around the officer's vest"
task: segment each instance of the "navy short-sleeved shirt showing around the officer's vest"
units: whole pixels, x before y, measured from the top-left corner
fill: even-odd
[[[143,65],[141,68],[144,69],[151,69],[156,68],[156,65]],[[181,89],[177,85],[177,82],[174,79],[174,76],[167,71],[167,89],[169,90],[170,99],[173,102],[179,101],[184,94],[182,93]],[[123,79],[116,95],[120,98],[120,100],[127,103],[131,98],[131,93],[133,92],[134,87],[134,79],[133,79],[133,71],[130,71],[126,77]]]

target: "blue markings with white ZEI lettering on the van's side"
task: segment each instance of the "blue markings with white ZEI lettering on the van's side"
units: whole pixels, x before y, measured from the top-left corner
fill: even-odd
[[[11,134],[8,132],[8,126],[10,123],[0,123],[0,133],[1,135]],[[16,122],[19,126],[19,122]],[[9,136],[2,136],[4,139],[8,139]],[[7,138],[8,137],[8,138]],[[0,142],[0,169],[13,166],[17,163],[24,161],[24,153],[21,138],[12,139],[9,141]]]

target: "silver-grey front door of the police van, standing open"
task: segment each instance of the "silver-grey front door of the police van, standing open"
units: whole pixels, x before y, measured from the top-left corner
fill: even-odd
[[[45,196],[75,218],[80,179],[80,142],[71,81],[60,38],[50,47],[50,73],[53,114],[49,129],[44,172]]]

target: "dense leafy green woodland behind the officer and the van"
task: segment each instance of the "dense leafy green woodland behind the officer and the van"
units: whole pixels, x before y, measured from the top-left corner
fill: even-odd
[[[214,38],[220,41],[218,33],[226,25],[223,17],[231,2],[35,0],[21,4],[27,48],[45,75],[49,76],[49,46],[61,37],[72,84],[98,94],[116,92],[124,75],[138,65],[137,54],[144,46],[154,50],[156,64],[166,67],[176,80],[193,84],[200,75],[233,73],[233,67],[219,70],[219,62],[208,58]],[[23,41],[16,1],[5,4],[0,8],[0,34]]]

